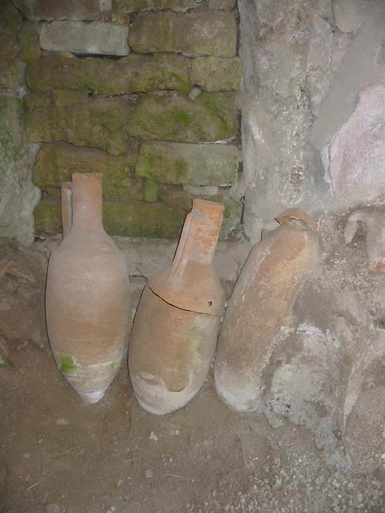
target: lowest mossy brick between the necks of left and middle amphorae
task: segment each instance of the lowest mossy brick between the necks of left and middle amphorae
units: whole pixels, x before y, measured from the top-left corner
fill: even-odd
[[[103,223],[110,235],[177,239],[186,212],[163,203],[104,202]]]

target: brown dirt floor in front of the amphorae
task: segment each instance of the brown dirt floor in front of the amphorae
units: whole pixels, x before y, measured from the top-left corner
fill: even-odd
[[[0,280],[0,513],[385,511],[385,431],[375,454],[358,442],[374,470],[332,464],[290,419],[226,408],[212,369],[167,416],[140,408],[125,366],[84,405],[51,356],[41,261],[1,249],[17,265]]]

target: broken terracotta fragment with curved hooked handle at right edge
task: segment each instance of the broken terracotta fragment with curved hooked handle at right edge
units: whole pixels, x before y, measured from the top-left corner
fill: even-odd
[[[370,272],[385,272],[385,206],[377,205],[350,214],[344,230],[345,243],[353,241],[362,223],[367,227],[367,254]]]

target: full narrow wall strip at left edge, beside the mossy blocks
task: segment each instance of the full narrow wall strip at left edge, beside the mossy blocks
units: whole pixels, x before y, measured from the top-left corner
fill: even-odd
[[[31,182],[35,146],[24,128],[26,55],[22,15],[0,2],[0,237],[33,241],[33,208],[40,191]]]

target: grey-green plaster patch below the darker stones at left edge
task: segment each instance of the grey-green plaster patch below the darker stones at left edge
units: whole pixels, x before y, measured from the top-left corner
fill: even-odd
[[[24,130],[23,104],[0,96],[0,237],[33,241],[32,211],[40,192],[31,182],[34,149]]]

